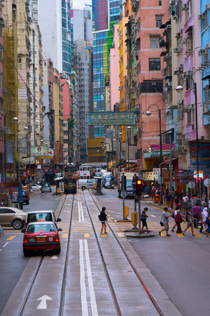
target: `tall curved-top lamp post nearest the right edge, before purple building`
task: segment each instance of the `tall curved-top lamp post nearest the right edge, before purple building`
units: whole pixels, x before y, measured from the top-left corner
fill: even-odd
[[[197,197],[200,197],[200,184],[199,184],[199,155],[198,155],[198,126],[197,126],[197,84],[194,81],[193,77],[190,76],[190,74],[184,74],[179,79],[179,86],[176,87],[176,91],[178,93],[181,93],[183,91],[183,86],[181,86],[181,79],[188,79],[190,78],[193,81],[193,87],[194,87],[194,94],[195,94],[195,124],[196,124],[196,154],[197,154]]]

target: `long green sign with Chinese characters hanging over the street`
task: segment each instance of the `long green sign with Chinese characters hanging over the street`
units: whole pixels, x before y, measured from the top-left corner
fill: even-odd
[[[90,112],[89,125],[134,125],[134,112]]]

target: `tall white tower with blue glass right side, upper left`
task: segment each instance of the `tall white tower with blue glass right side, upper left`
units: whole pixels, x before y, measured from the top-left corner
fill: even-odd
[[[70,9],[70,0],[31,0],[31,19],[38,21],[41,29],[43,56],[51,58],[54,67],[69,77],[71,77]]]

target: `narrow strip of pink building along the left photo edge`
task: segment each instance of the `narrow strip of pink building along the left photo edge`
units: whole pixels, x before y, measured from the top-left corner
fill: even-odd
[[[4,27],[4,22],[2,18],[1,11],[1,1],[0,1],[0,45],[2,45],[2,27]],[[2,62],[2,52],[0,52],[0,176],[3,176],[3,162],[4,162],[4,124],[3,124],[3,62]],[[0,183],[2,178],[0,178]]]

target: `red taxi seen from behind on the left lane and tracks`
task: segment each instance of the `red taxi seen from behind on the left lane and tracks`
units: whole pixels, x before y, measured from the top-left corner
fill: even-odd
[[[56,227],[53,222],[29,223],[23,237],[23,253],[29,256],[30,251],[35,250],[55,250],[60,254],[59,232],[62,228]]]

